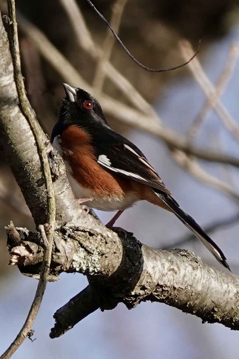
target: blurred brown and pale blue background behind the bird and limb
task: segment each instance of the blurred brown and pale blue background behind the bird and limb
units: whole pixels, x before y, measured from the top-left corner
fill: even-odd
[[[152,104],[163,125],[183,136],[191,146],[238,157],[239,0],[95,0],[94,4],[107,19],[111,18],[114,28],[119,27],[120,38],[144,65],[168,68],[182,64],[185,56],[190,58],[186,47],[182,48],[185,43],[178,45],[185,38],[195,50],[201,39],[196,61],[200,61],[202,68],[185,66],[165,73],[141,69],[118,44],[111,43],[106,25],[87,1],[16,1],[25,85],[44,131],[50,134],[56,122],[64,96],[62,82],[74,77],[68,63],[58,61],[54,52],[57,49],[82,76],[83,80],[75,77],[71,85],[84,87],[86,81],[97,98],[109,95],[144,116],[154,114],[149,106]],[[1,0],[0,6],[3,15],[5,1]],[[46,38],[54,48],[49,50]],[[105,70],[106,74],[101,70],[100,64],[107,56],[116,69],[114,79],[119,74],[123,79],[112,81],[109,76],[112,68],[107,70],[109,73]],[[205,76],[216,85],[214,93]],[[129,87],[127,90],[126,85],[122,89],[125,79],[135,92]],[[204,93],[207,89],[209,100]],[[143,151],[181,207],[203,228],[208,227],[231,270],[239,275],[238,170],[188,157],[172,146],[169,148],[154,131],[150,134],[150,124],[145,133],[143,129],[140,131],[140,124],[135,129],[127,124],[127,116],[122,119],[114,113],[114,108],[105,107],[111,127]],[[159,118],[153,118],[159,125]],[[3,226],[13,220],[16,226],[34,230],[34,223],[3,157],[0,201],[0,353],[3,353],[23,325],[37,288],[36,280],[21,275],[17,267],[8,266]],[[113,215],[99,211],[97,214],[103,223]],[[175,216],[149,203],[140,202],[125,211],[117,225],[134,232],[137,239],[149,246],[191,249],[206,263],[223,270],[201,243],[187,240],[189,232]],[[53,313],[86,285],[86,278],[79,274],[62,274],[58,282],[47,285],[33,326],[33,339],[37,339],[33,343],[25,340],[14,359],[234,359],[238,356],[238,332],[220,324],[202,324],[190,314],[149,302],[131,311],[123,304],[112,311],[96,311],[62,337],[50,339]]]

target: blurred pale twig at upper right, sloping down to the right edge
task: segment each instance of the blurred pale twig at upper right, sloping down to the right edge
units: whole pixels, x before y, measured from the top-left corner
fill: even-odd
[[[179,41],[179,46],[182,52],[182,56],[186,59],[193,53],[192,47],[190,43],[186,40]],[[207,98],[210,98],[211,94],[215,92],[214,85],[212,85],[211,81],[207,78],[202,66],[198,59],[193,59],[188,65],[191,73],[196,79],[197,83],[200,85],[202,90],[204,91]],[[215,99],[215,102],[212,104],[215,112],[218,114],[225,128],[236,138],[239,140],[239,126],[238,123],[231,117],[230,113],[226,109],[226,107],[221,103],[219,99]]]

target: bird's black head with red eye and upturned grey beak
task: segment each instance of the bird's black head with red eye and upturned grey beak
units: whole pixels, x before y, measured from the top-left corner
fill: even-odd
[[[86,130],[88,126],[97,125],[109,128],[99,102],[89,92],[68,84],[63,86],[66,97],[61,104],[55,131],[61,132],[72,124],[82,126]]]

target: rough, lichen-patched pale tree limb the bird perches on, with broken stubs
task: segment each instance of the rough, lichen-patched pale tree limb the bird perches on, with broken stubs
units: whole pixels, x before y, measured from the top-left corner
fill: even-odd
[[[46,222],[46,192],[34,138],[18,106],[8,40],[0,21],[1,146],[36,225]],[[63,334],[97,308],[124,302],[130,309],[151,300],[194,314],[202,321],[239,329],[239,278],[207,266],[185,250],[147,247],[132,233],[115,233],[77,204],[61,158],[47,143],[56,194],[56,230],[49,280],[61,272],[87,275],[89,286],[55,314],[51,337]],[[21,272],[39,276],[43,256],[41,236],[8,227],[10,263]]]

